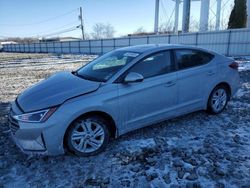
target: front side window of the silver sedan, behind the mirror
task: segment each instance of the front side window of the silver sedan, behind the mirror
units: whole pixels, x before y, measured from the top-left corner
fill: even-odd
[[[138,62],[129,72],[137,72],[144,78],[169,73],[174,70],[170,51],[159,52]]]

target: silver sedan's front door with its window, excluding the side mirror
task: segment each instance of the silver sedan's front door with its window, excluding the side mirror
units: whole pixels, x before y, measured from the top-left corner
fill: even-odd
[[[141,74],[142,82],[118,84],[119,114],[124,133],[174,115],[178,83],[172,59],[171,51],[149,55],[127,72]]]

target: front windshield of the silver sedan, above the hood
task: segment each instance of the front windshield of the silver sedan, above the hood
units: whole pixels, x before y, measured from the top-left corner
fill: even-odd
[[[79,69],[77,75],[84,79],[105,82],[138,55],[137,52],[112,51]]]

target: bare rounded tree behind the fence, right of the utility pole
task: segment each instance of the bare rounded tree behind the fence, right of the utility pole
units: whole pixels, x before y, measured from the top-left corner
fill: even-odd
[[[115,29],[110,24],[96,23],[92,28],[91,37],[93,39],[103,39],[114,37]]]

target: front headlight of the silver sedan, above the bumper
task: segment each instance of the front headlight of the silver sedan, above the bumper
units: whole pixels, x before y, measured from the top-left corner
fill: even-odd
[[[20,114],[13,116],[17,121],[29,122],[29,123],[40,123],[44,122],[56,111],[56,108],[49,108],[46,110],[40,110],[27,114]]]

